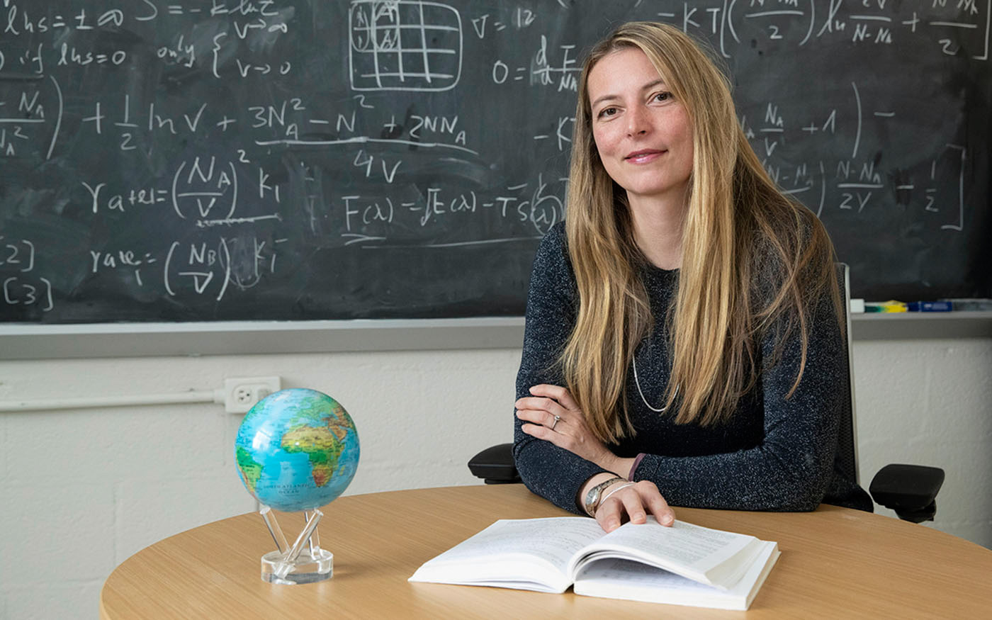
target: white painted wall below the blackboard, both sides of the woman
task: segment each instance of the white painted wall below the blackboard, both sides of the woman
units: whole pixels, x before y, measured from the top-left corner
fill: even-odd
[[[862,482],[943,467],[931,527],[992,547],[992,339],[855,343]],[[337,398],[361,437],[347,493],[474,484],[512,438],[519,350],[0,362],[0,400],[212,390],[278,374]],[[0,618],[96,617],[103,580],[164,537],[248,512],[218,405],[0,414]],[[880,509],[881,511],[882,509]]]

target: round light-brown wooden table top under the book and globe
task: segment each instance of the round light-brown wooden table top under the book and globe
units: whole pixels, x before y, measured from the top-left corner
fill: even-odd
[[[742,612],[502,588],[410,583],[423,562],[496,519],[567,513],[523,485],[342,497],[325,506],[320,544],[334,575],[274,585],[259,558],[275,547],[249,513],[152,545],[100,592],[100,617],[126,618],[727,618]],[[679,519],[777,541],[782,557],[747,612],[756,618],[977,618],[992,608],[992,551],[922,525],[834,506],[811,513],[676,509]],[[300,515],[280,515],[287,536]],[[290,533],[293,533],[292,535]]]

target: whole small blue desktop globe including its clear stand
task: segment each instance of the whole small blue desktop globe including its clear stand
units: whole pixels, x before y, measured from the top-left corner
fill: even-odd
[[[234,441],[241,482],[262,505],[259,511],[277,551],[262,556],[262,579],[312,583],[330,578],[333,554],[320,549],[319,508],[347,488],[358,468],[358,432],[337,401],[315,390],[272,394],[251,408]],[[271,509],[305,511],[306,526],[291,546]]]

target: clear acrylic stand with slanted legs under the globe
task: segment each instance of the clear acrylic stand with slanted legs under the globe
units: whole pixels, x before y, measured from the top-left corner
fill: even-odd
[[[316,583],[329,579],[334,573],[334,555],[320,549],[320,538],[316,532],[316,524],[320,522],[323,513],[314,509],[304,512],[307,525],[297,537],[293,547],[289,546],[286,536],[272,509],[263,506],[259,511],[269,534],[275,541],[278,551],[269,552],[262,556],[262,580],[269,583],[294,585],[297,583]]]

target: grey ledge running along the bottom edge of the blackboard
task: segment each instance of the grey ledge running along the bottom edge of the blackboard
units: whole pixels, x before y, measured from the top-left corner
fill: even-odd
[[[992,311],[852,314],[855,340],[992,337]],[[519,349],[522,316],[0,325],[0,360]]]

